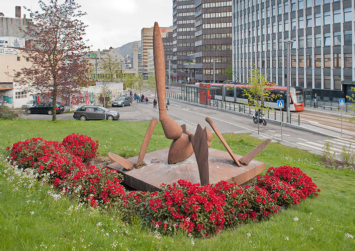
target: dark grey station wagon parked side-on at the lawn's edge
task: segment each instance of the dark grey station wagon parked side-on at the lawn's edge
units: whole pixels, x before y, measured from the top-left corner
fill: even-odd
[[[84,105],[74,111],[73,117],[75,119],[80,119],[83,121],[90,120],[90,119],[99,120],[105,118],[107,120],[118,120],[119,113],[118,111],[105,109],[102,106]]]

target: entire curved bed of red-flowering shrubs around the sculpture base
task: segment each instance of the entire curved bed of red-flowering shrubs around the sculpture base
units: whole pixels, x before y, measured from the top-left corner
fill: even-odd
[[[280,206],[298,204],[300,199],[318,196],[320,191],[299,168],[283,166],[269,168],[251,186],[226,181],[201,186],[179,180],[172,185],[162,184],[160,192],[128,192],[116,171],[83,164],[97,155],[97,147],[90,137],[73,134],[62,144],[34,138],[7,150],[19,168],[32,168],[40,178],[49,177],[60,191],[92,207],[114,207],[127,221],[139,216],[154,228],[168,232],[181,229],[211,235],[226,226],[267,219]]]

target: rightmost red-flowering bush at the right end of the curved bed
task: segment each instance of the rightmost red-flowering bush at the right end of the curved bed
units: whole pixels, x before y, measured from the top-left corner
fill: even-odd
[[[312,182],[312,179],[305,175],[298,167],[270,167],[266,174],[286,181],[295,189],[301,190],[305,197],[310,195],[318,196],[318,192],[320,192],[317,189],[317,185]]]

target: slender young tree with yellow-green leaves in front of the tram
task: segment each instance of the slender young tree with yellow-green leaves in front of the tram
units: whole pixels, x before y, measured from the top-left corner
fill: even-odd
[[[259,112],[272,110],[270,106],[265,106],[265,101],[271,101],[276,98],[274,93],[266,88],[271,84],[266,82],[267,74],[261,73],[256,66],[249,71],[250,77],[248,79],[249,87],[243,89],[243,95],[248,98],[247,105],[254,107]],[[258,119],[258,134],[260,134],[260,123]]]

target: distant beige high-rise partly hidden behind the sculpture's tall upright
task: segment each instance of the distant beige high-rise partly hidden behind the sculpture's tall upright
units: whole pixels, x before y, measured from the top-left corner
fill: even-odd
[[[143,28],[141,30],[142,74],[144,77],[148,75],[148,51],[153,49],[153,30],[154,28]],[[172,32],[172,29],[160,27],[162,38],[166,37],[168,32]]]

